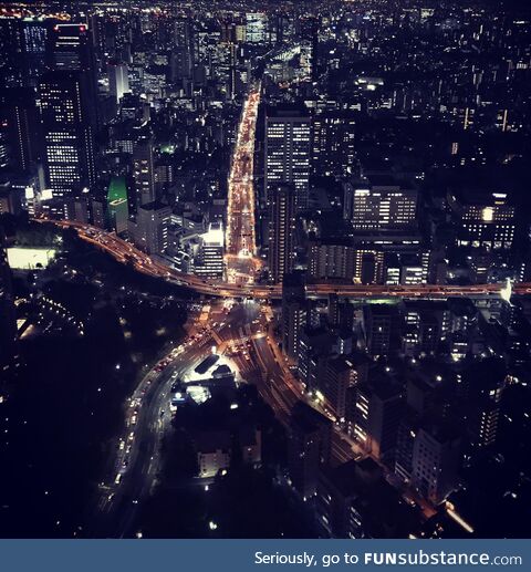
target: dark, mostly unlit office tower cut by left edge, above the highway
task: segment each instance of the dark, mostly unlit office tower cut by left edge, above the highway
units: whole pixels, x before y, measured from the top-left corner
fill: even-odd
[[[6,164],[19,171],[29,170],[37,157],[37,110],[27,89],[0,93],[0,122],[6,137]]]

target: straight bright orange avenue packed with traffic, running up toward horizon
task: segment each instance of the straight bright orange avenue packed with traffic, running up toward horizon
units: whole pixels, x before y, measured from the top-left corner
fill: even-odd
[[[227,280],[230,283],[250,283],[260,260],[254,257],[254,133],[260,84],[252,87],[243,105],[238,127],[228,185],[227,207]]]

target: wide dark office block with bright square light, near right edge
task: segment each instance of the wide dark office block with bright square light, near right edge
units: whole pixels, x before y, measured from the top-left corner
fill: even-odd
[[[516,231],[516,208],[506,193],[467,189],[449,193],[448,205],[457,225],[457,246],[508,250]]]

